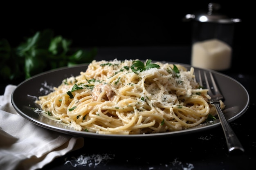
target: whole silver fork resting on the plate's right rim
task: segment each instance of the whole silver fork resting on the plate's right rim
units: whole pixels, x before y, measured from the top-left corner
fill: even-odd
[[[224,131],[224,135],[225,135],[226,142],[227,142],[227,148],[228,148],[229,152],[231,152],[233,150],[241,150],[242,152],[244,152],[245,150],[244,150],[242,144],[240,143],[235,132],[232,130],[231,126],[229,125],[227,119],[225,118],[225,116],[220,108],[219,100],[224,100],[224,97],[220,93],[220,90],[218,89],[218,86],[213,78],[212,73],[209,71],[209,76],[207,76],[206,71],[203,71],[202,74],[204,77],[204,81],[202,80],[201,71],[198,70],[198,79],[199,79],[200,86],[203,86],[203,87],[206,87],[207,89],[209,89],[208,94],[209,94],[209,96],[211,96],[211,100],[209,100],[209,103],[211,105],[213,105],[217,110],[217,114],[220,119],[220,124],[222,126],[222,129]],[[209,80],[208,80],[208,77],[210,77]]]

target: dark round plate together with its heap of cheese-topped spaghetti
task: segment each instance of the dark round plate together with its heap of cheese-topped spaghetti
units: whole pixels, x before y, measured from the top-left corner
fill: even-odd
[[[26,79],[11,95],[16,111],[32,123],[69,135],[115,138],[181,135],[220,126],[197,81],[200,68],[152,60],[93,60]],[[211,71],[225,97],[229,121],[249,107],[247,90]],[[236,93],[234,93],[236,92]]]

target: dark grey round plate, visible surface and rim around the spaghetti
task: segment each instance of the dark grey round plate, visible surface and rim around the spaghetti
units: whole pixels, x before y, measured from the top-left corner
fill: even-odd
[[[180,64],[180,63],[173,63]],[[191,66],[186,64],[181,64],[186,68],[190,68]],[[207,130],[210,128],[214,128],[216,126],[220,126],[219,119],[212,121],[211,123],[200,124],[199,126],[195,126],[193,128],[175,131],[175,132],[164,132],[164,133],[156,133],[156,134],[145,134],[145,135],[101,135],[92,132],[84,132],[84,131],[76,131],[71,128],[65,126],[64,124],[58,123],[52,119],[49,119],[39,113],[34,112],[31,108],[38,108],[35,104],[35,100],[37,97],[41,95],[46,95],[51,91],[53,86],[59,86],[63,79],[79,75],[81,71],[85,71],[88,64],[81,64],[74,67],[64,67],[58,68],[52,71],[47,71],[41,74],[38,74],[34,77],[26,79],[24,82],[20,83],[17,88],[13,91],[11,95],[11,103],[15,110],[25,119],[31,121],[32,123],[41,126],[43,128],[47,128],[50,130],[54,130],[57,132],[81,136],[81,137],[94,137],[94,138],[105,138],[105,139],[113,139],[119,138],[146,138],[146,137],[160,137],[160,136],[169,136],[169,135],[184,135],[192,132],[199,132],[201,130]],[[195,68],[195,71],[199,68]],[[225,97],[225,109],[223,112],[225,113],[225,117],[229,122],[234,121],[249,107],[249,94],[247,90],[244,88],[242,84],[240,84],[235,79],[224,75],[222,73],[218,73],[212,70],[211,71],[216,78],[216,81],[220,87],[222,94]]]

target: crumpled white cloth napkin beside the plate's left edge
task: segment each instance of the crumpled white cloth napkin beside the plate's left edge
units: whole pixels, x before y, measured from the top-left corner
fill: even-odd
[[[47,130],[20,116],[11,104],[15,88],[7,85],[0,95],[0,169],[40,169],[56,157],[83,147],[82,137]]]

